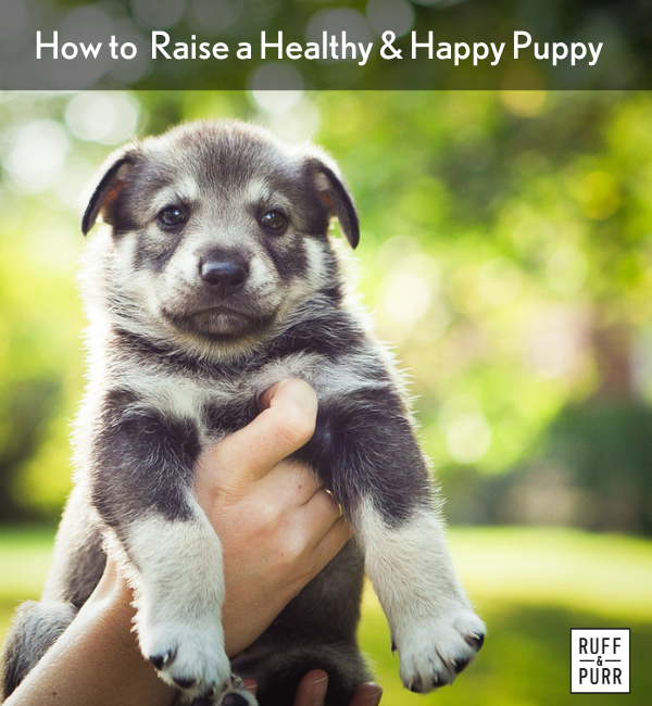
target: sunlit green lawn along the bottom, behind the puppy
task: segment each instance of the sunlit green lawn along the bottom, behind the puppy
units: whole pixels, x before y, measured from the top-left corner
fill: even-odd
[[[52,533],[0,532],[0,631],[42,584]],[[598,706],[652,703],[652,542],[573,530],[453,529],[463,582],[489,627],[477,661],[428,696],[401,688],[399,659],[371,590],[360,630],[384,706]],[[569,693],[570,628],[631,629],[631,693]]]

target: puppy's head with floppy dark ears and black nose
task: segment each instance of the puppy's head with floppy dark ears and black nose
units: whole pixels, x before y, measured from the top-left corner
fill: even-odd
[[[336,167],[237,123],[190,124],[127,148],[86,211],[111,226],[114,306],[162,337],[258,340],[333,278],[326,231],[358,219]]]

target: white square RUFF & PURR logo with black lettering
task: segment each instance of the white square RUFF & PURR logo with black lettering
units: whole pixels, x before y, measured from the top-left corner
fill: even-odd
[[[570,693],[629,693],[629,630],[570,630]]]

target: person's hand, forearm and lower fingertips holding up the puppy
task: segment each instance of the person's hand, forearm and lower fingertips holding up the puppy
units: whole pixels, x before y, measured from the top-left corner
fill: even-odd
[[[255,640],[351,537],[312,471],[284,461],[312,436],[313,390],[286,380],[263,395],[261,407],[254,421],[204,454],[197,467],[197,496],[224,550],[229,655]],[[175,690],[140,655],[133,598],[120,563],[109,556],[93,594],[7,705],[174,703]],[[323,703],[325,679],[321,670],[305,675],[294,706]],[[255,685],[249,681],[247,688]],[[350,706],[377,706],[379,698],[378,686],[362,684]]]

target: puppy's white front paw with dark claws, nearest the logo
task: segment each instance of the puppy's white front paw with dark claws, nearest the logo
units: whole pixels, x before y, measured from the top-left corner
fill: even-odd
[[[452,683],[482,646],[485,632],[485,623],[466,606],[414,620],[398,644],[405,688],[425,694]]]

